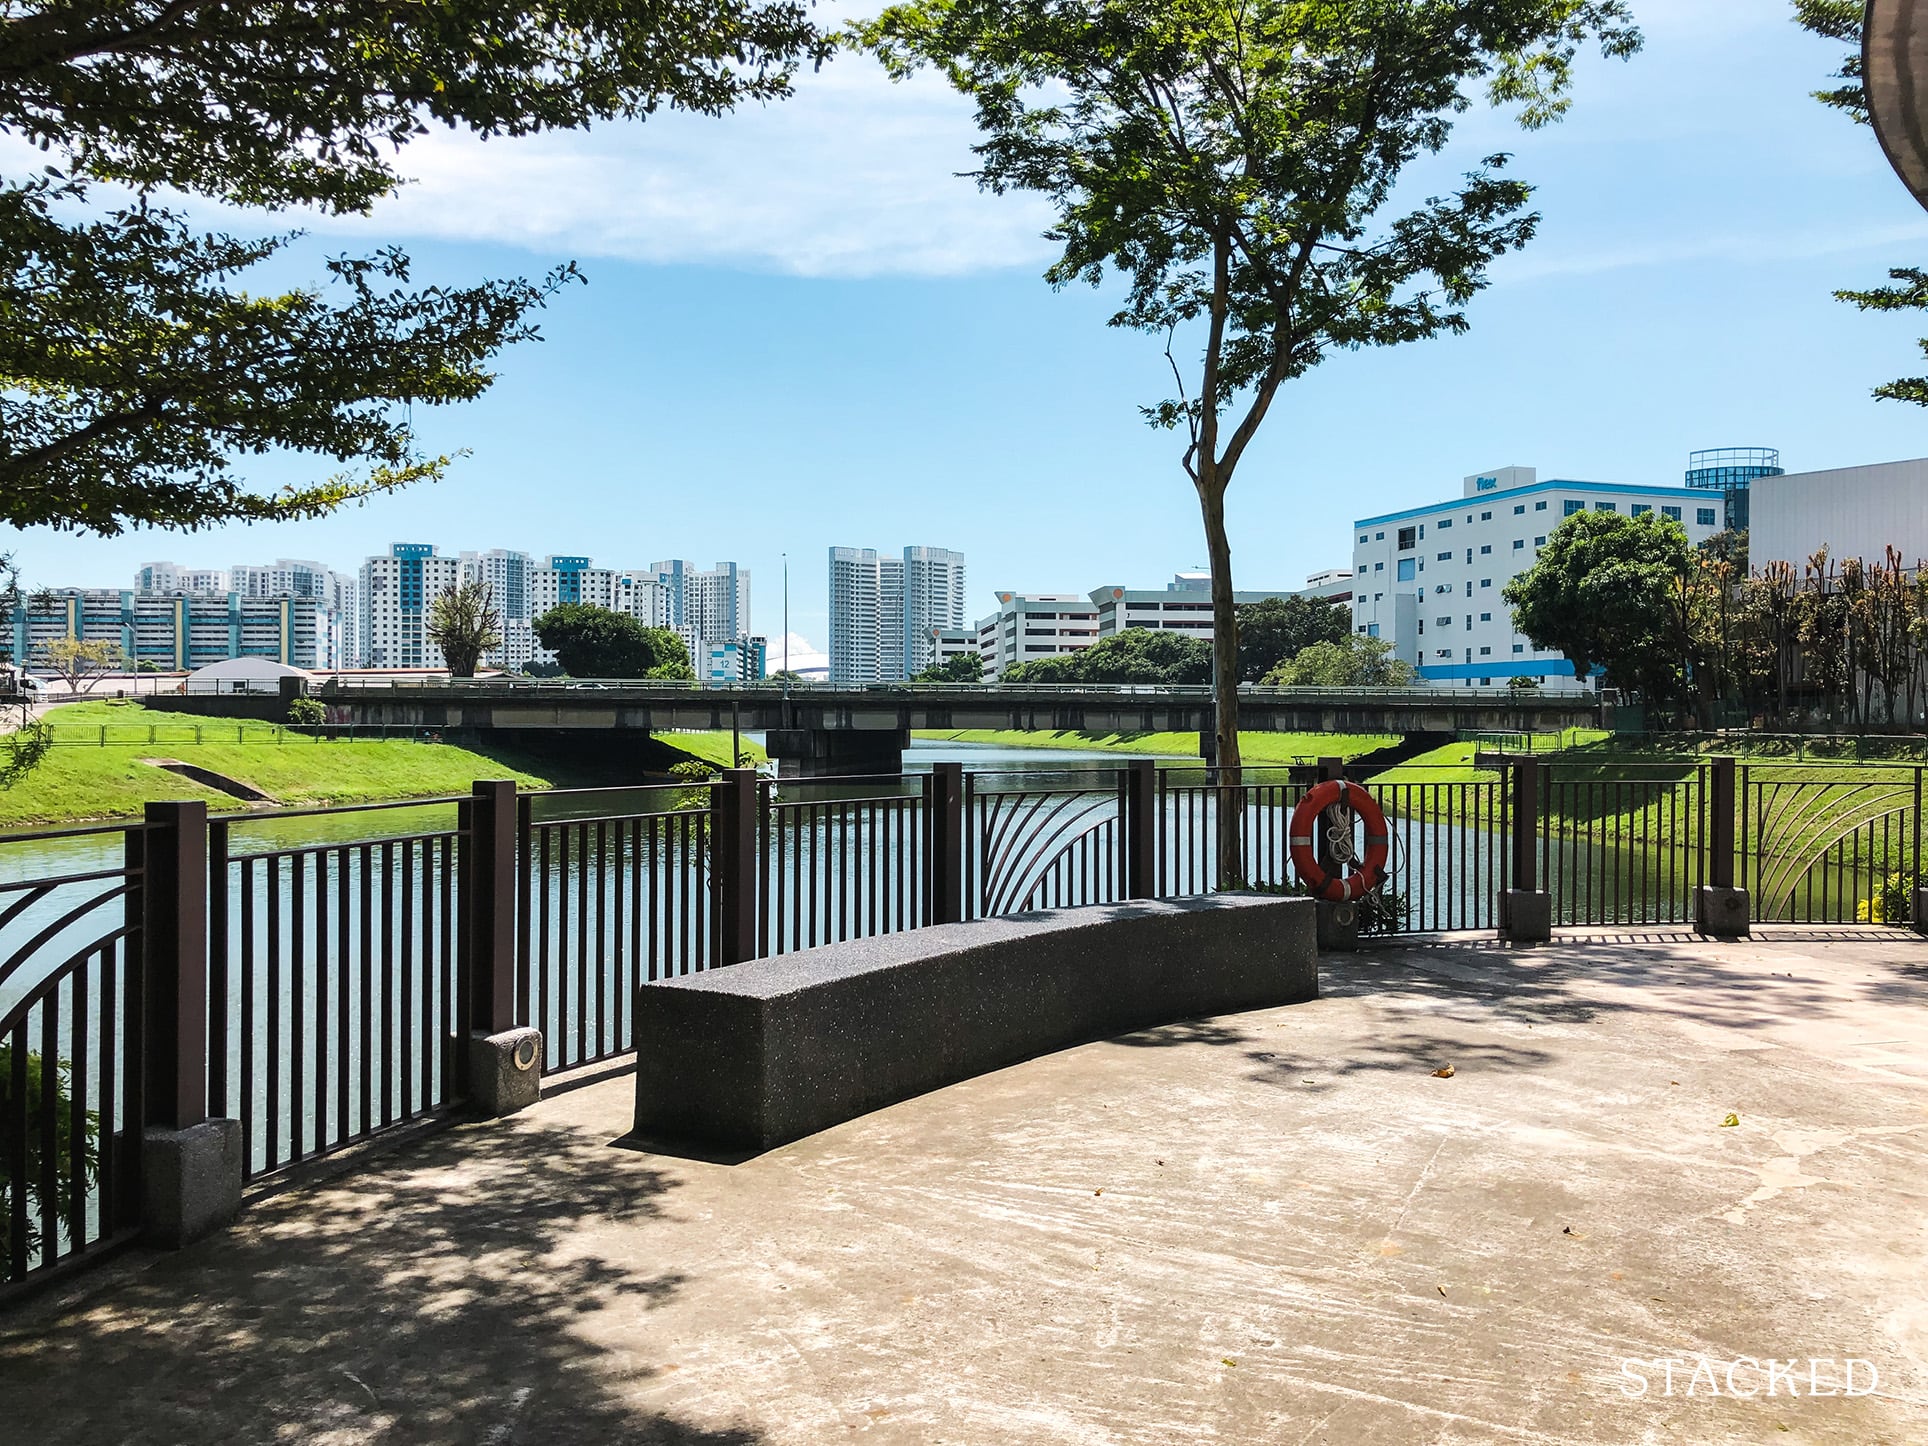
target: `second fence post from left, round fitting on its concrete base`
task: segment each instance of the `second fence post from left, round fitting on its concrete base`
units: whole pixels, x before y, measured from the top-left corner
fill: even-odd
[[[515,781],[478,781],[463,816],[457,1085],[470,1109],[513,1114],[542,1099],[542,1031],[515,1016]]]

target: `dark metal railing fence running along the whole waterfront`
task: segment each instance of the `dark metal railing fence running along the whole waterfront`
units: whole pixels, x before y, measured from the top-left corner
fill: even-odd
[[[472,794],[0,839],[0,1280],[139,1228],[141,1130],[243,1122],[260,1178],[467,1095],[470,1033],[536,1026],[544,1068],[625,1055],[636,985],[1072,904],[1294,887],[1317,769],[964,771]],[[1506,889],[1562,925],[1683,924],[1702,883],[1756,920],[1913,908],[1922,767],[1402,765],[1377,929],[1488,929]]]

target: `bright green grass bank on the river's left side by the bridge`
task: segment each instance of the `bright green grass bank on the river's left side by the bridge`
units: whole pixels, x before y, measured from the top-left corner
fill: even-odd
[[[469,792],[476,779],[515,779],[521,789],[629,781],[611,779],[607,769],[505,748],[476,750],[413,738],[314,738],[274,723],[148,711],[133,700],[67,704],[50,710],[46,721],[56,742],[25,779],[0,789],[0,827],[127,817],[139,814],[143,804],[164,798],[201,798],[210,810],[243,806],[228,792],[147,760],[210,769],[283,806],[434,798]],[[710,763],[729,763],[727,733],[677,733],[657,742]],[[746,752],[762,752],[744,746]]]

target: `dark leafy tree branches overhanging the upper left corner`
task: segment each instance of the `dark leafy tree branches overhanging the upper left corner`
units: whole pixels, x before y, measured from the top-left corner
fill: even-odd
[[[289,235],[201,235],[150,201],[364,212],[430,125],[482,137],[789,93],[827,39],[800,0],[13,0],[0,131],[50,156],[0,179],[0,522],[118,532],[312,517],[436,478],[413,403],[478,395],[575,266],[409,287],[397,251],[328,262],[334,295],[249,295]],[[96,183],[131,189],[104,206]],[[276,495],[233,457],[366,474]]]

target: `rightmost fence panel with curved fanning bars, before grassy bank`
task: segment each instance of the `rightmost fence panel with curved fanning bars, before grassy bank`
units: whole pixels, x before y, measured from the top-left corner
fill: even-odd
[[[1901,924],[1920,873],[1922,769],[1861,777],[1749,765],[1739,781],[1739,881],[1758,924]]]

